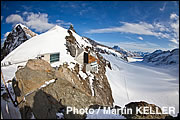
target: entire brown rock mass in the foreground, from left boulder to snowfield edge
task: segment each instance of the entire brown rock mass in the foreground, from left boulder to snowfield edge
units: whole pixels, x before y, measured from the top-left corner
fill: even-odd
[[[105,62],[102,58],[100,60],[100,64]],[[29,60],[24,68],[20,68],[16,72],[20,95],[18,95],[19,93],[15,94],[22,118],[30,118],[32,113],[37,119],[57,118],[56,113],[60,109],[66,110],[67,106],[78,109],[94,104],[112,106],[113,98],[105,76],[105,64],[101,66],[99,74],[94,75],[93,90],[95,94],[92,96],[89,77],[86,79],[80,77],[77,63],[73,70],[68,68],[68,64],[61,65],[55,70],[44,60]],[[55,82],[41,87],[52,79],[55,79]],[[26,101],[21,102],[24,96]],[[78,114],[64,114],[64,116],[65,118],[85,117]]]

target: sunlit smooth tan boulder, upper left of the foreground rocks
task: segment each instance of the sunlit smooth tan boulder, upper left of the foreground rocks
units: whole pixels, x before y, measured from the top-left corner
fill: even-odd
[[[55,70],[45,60],[29,60],[24,68],[16,72],[21,97],[40,88],[46,81],[54,79]]]

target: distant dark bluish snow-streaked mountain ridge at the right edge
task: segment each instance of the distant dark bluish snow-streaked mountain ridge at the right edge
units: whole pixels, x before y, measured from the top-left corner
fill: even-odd
[[[172,51],[156,50],[149,55],[145,55],[143,62],[153,65],[178,65],[179,49],[174,49]]]

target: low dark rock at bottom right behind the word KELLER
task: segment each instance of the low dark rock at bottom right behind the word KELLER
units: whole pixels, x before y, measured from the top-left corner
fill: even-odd
[[[131,102],[127,105],[125,105],[126,109],[132,109],[132,114],[127,114],[127,115],[123,115],[128,119],[165,119],[165,118],[172,118],[172,116],[168,115],[168,114],[140,114],[138,112],[137,113],[137,109],[136,108],[142,108],[140,109],[140,111],[143,113],[145,112],[143,110],[144,107],[148,107],[148,108],[152,108],[152,113],[162,113],[162,110],[160,107],[154,105],[154,104],[149,104],[146,103],[144,101],[140,101],[140,102]],[[150,111],[147,110],[148,113],[150,113]]]

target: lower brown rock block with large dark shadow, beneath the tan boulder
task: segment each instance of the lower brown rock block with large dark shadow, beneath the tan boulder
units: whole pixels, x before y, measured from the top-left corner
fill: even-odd
[[[27,118],[28,111],[32,111],[36,119],[56,119],[56,113],[67,106],[78,109],[93,104],[91,96],[73,87],[67,80],[57,79],[56,83],[33,92],[26,97],[26,102],[19,105],[22,115]],[[66,111],[64,111],[64,114]],[[30,113],[29,113],[30,114]],[[76,114],[65,115],[65,118],[73,118]],[[79,116],[82,118],[81,116]]]

